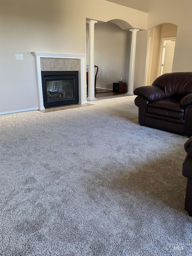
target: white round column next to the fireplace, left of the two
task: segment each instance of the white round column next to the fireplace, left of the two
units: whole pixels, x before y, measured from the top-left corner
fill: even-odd
[[[94,28],[96,20],[88,20],[89,24],[89,67],[88,67],[88,101],[95,101],[95,56],[94,56]]]

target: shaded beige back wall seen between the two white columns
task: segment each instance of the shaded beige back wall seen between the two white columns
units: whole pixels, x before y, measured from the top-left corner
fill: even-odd
[[[95,65],[99,67],[97,87],[113,89],[113,82],[122,77],[128,83],[130,44],[131,32],[111,22],[95,24]]]

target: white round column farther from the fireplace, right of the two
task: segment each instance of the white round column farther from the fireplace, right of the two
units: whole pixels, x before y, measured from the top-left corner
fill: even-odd
[[[127,94],[133,95],[134,86],[134,73],[135,73],[135,52],[136,52],[136,37],[139,29],[130,29],[131,31],[131,56],[129,66],[129,81],[128,81],[128,92]]]

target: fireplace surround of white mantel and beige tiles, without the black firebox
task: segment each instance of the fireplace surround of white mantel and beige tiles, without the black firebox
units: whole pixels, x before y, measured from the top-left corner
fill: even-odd
[[[32,52],[36,60],[36,74],[38,84],[38,109],[44,110],[41,71],[79,71],[79,104],[86,100],[86,67],[85,56],[75,54]]]

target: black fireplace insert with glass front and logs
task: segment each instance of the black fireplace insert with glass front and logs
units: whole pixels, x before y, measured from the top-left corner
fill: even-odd
[[[44,107],[79,103],[78,71],[41,71]]]

